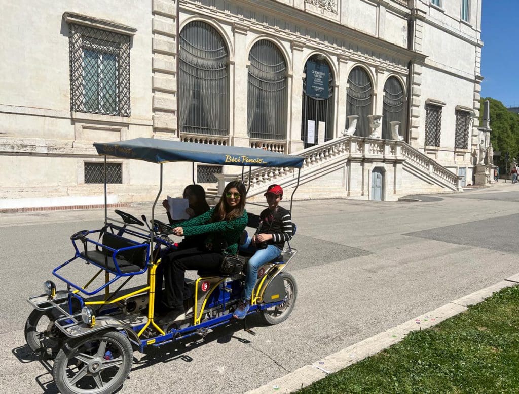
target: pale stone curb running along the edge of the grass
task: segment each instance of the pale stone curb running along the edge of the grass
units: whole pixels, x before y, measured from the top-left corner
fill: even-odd
[[[327,375],[340,371],[366,357],[372,356],[395,343],[402,341],[411,331],[426,329],[443,320],[453,317],[467,310],[468,305],[475,305],[490,297],[497,291],[519,284],[519,273],[510,276],[501,282],[475,291],[468,296],[450,301],[440,308],[417,316],[405,323],[392,327],[389,330],[353,344],[330,356],[301,367],[288,375],[281,376],[257,389],[247,391],[246,394],[290,393],[317,382]]]

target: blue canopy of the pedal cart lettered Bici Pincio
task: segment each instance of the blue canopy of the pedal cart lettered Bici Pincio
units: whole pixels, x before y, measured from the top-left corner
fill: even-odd
[[[262,149],[156,138],[94,142],[94,147],[100,155],[145,160],[151,163],[198,162],[230,166],[301,168],[305,160],[301,156],[284,155]]]

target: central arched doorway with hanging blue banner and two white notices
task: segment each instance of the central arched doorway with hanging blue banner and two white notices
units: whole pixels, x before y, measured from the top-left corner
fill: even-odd
[[[307,60],[303,81],[301,122],[304,147],[333,139],[333,72],[322,55]]]

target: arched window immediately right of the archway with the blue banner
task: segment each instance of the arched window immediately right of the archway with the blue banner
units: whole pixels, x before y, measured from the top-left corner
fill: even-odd
[[[360,66],[353,68],[348,76],[347,115],[359,115],[355,135],[367,137],[371,134],[368,115],[372,115],[372,89],[370,76]],[[346,128],[348,128],[346,124]]]

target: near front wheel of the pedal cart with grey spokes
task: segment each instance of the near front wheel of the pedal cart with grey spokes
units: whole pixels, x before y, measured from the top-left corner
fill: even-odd
[[[62,394],[110,394],[125,382],[132,363],[126,335],[101,332],[67,341],[54,360],[52,375]]]

